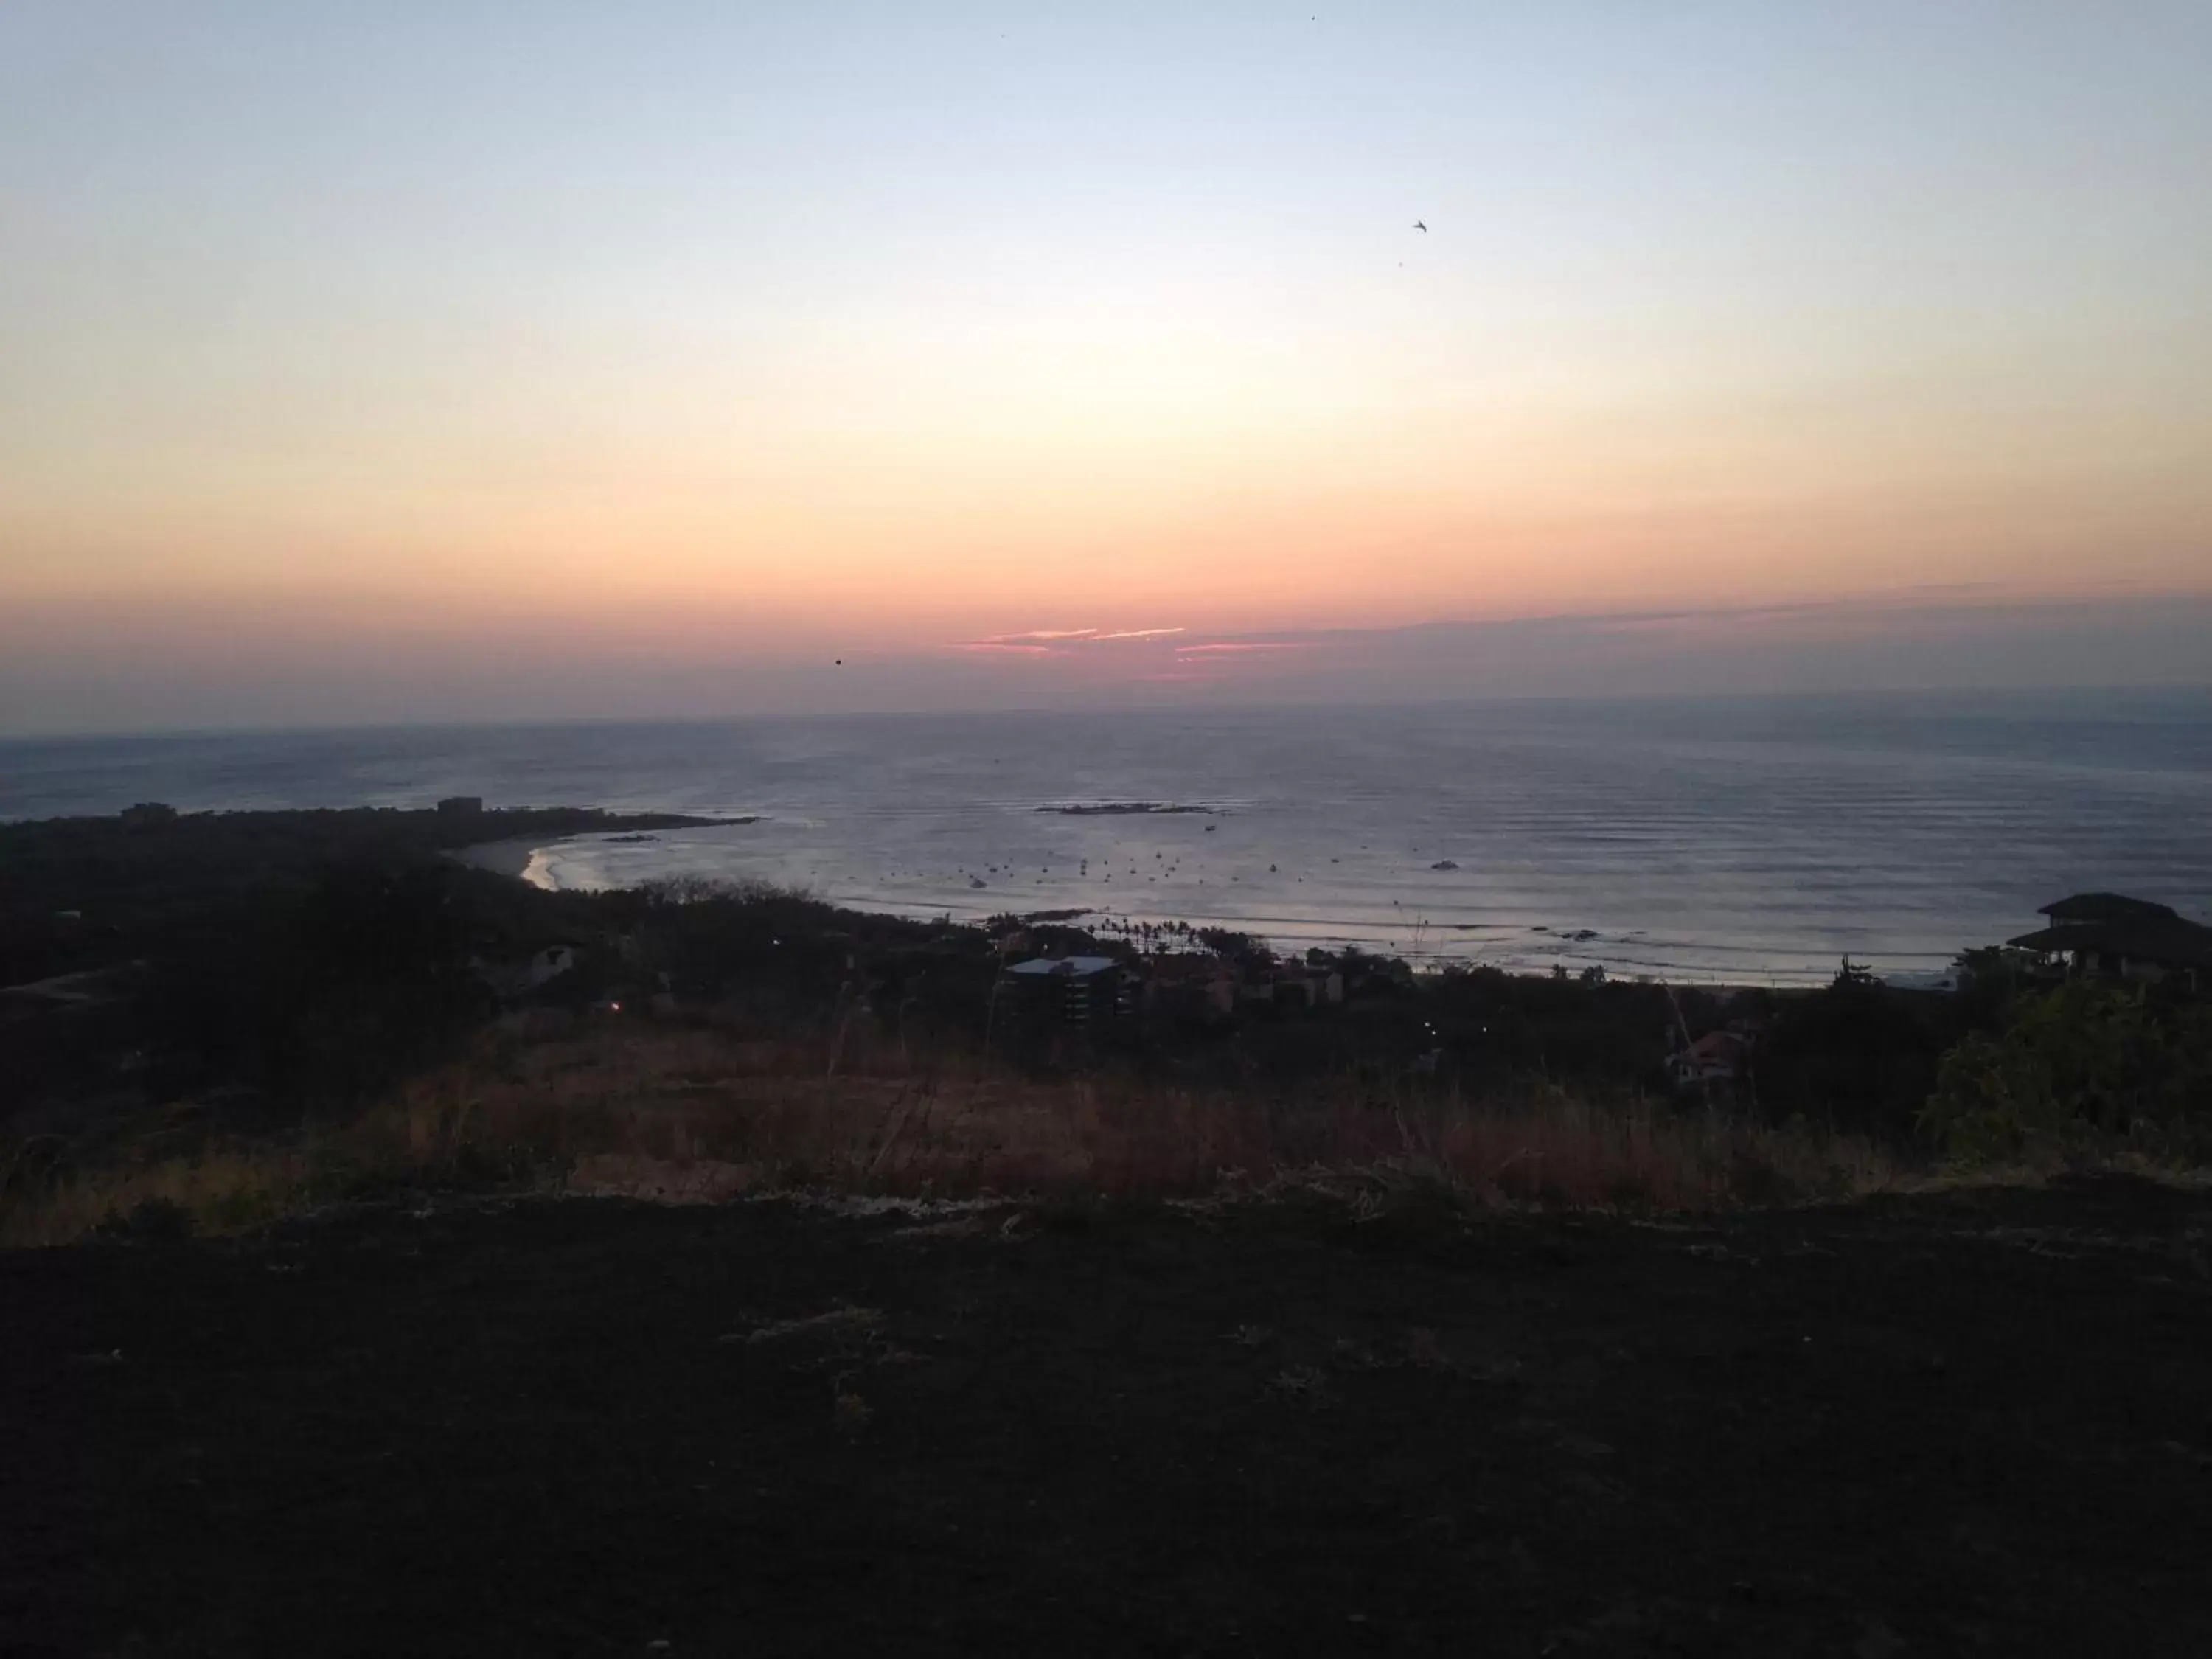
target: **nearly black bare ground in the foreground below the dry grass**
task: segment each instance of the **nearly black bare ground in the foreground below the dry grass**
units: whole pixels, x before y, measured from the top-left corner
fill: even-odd
[[[0,1259],[7,1652],[2212,1652],[2212,1194]]]

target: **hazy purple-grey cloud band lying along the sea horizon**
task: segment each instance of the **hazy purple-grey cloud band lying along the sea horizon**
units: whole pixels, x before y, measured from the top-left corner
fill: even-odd
[[[832,666],[734,655],[697,637],[498,635],[345,617],[281,648],[246,617],[199,615],[190,653],[146,633],[128,670],[55,611],[0,611],[0,730],[148,732],[422,721],[728,719],[1214,703],[1429,703],[1493,697],[1666,697],[2064,686],[2208,688],[2212,595],[2081,595],[2066,604],[1874,602],[1400,628],[1121,641],[1099,650],[991,644],[869,650]],[[1646,622],[1657,626],[1621,626]],[[153,624],[148,624],[153,628]],[[1201,650],[1188,646],[1301,646]],[[283,717],[272,719],[270,710]]]

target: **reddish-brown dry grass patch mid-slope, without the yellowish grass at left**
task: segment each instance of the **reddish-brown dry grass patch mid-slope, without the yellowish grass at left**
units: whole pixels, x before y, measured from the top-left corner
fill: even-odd
[[[706,1031],[487,1055],[411,1086],[363,1133],[418,1164],[498,1148],[518,1164],[560,1164],[591,1188],[635,1168],[664,1197],[794,1186],[1194,1197],[1285,1170],[1389,1168],[1495,1203],[1701,1210],[1898,1177],[1867,1141],[1546,1088],[1475,1102],[1411,1088],[1376,1099],[1329,1084],[1197,1095],[982,1066],[825,1077]]]

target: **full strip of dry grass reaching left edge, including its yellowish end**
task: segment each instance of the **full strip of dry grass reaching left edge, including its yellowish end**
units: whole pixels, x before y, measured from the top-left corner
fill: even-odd
[[[215,1146],[18,1190],[0,1241],[142,1208],[239,1230],[367,1186],[557,1186],[675,1201],[761,1190],[1188,1199],[1296,1183],[1345,1201],[1442,1186],[1484,1206],[1681,1212],[1898,1183],[1871,1144],[1555,1088],[1464,1099],[1349,1084],[1194,1095],[973,1062],[841,1068],[703,1029],[491,1042],[296,1146]],[[1363,1199],[1360,1194],[1369,1194]]]

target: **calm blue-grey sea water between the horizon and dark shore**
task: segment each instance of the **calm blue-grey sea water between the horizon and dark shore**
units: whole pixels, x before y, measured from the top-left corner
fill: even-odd
[[[2212,911],[2212,692],[0,743],[4,818],[440,794],[759,814],[549,847],[531,876],[557,887],[703,872],[911,916],[1086,909],[1515,969],[1807,982],[1849,953],[1916,973],[2077,889]],[[1040,812],[1108,801],[1214,816]]]

